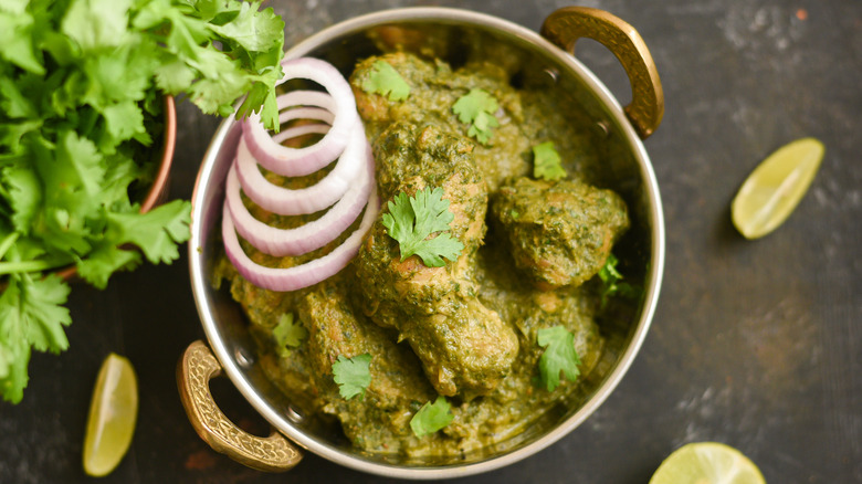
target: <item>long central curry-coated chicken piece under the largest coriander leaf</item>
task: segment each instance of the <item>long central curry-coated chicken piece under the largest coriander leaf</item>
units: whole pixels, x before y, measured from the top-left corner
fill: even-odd
[[[465,249],[442,267],[429,267],[417,256],[402,261],[398,243],[378,220],[356,259],[357,276],[365,282],[362,308],[380,326],[398,329],[440,394],[486,394],[508,375],[518,344],[512,327],[479,301],[470,274],[487,210],[472,144],[433,125],[395,123],[375,148],[383,199],[441,187],[454,214],[452,235]]]

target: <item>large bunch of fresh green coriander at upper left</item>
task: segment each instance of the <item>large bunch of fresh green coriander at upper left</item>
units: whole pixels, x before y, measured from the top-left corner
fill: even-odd
[[[0,393],[19,402],[31,349],[69,346],[54,274],[104,288],[144,256],[170,263],[187,201],[140,213],[165,95],[277,123],[284,22],[260,1],[0,0]]]

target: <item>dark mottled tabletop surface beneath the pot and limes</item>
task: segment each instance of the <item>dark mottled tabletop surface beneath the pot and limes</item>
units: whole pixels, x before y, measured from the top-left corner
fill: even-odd
[[[537,30],[559,0],[281,0],[287,44],[358,13],[459,6]],[[549,449],[476,483],[645,483],[692,441],[740,449],[770,483],[862,482],[862,2],[590,0],[634,25],[664,84],[664,123],[646,143],[664,199],[667,263],[652,329],[607,402]],[[578,55],[623,103],[616,60]],[[188,198],[219,120],[179,108],[171,196]],[[730,200],[757,162],[802,136],[827,155],[775,233],[750,242]],[[175,365],[202,337],[187,261],[145,266],[104,292],[76,285],[71,348],[35,355],[18,406],[0,403],[0,483],[86,482],[86,409],[102,359],[127,355],[140,385],[133,446],[102,482],[359,483],[379,477],[306,455],[286,475],[216,454],[186,420]],[[230,414],[264,428],[229,385]],[[265,428],[264,428],[265,429]]]

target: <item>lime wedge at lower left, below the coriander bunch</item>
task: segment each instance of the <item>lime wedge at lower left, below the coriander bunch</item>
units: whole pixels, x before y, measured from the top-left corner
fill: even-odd
[[[138,415],[138,382],[128,359],[111,354],[102,364],[90,402],[84,471],[107,475],[126,454]]]

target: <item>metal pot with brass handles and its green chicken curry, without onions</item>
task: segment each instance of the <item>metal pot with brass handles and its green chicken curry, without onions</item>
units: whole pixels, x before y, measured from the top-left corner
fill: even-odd
[[[623,64],[629,106],[571,55],[580,38]],[[459,193],[452,211],[470,215],[451,225],[464,255],[431,288],[404,290],[378,221],[336,276],[291,293],[252,286],[219,236],[240,136],[223,122],[198,176],[189,243],[208,345],[188,348],[178,381],[196,430],[256,469],[290,469],[304,449],[406,478],[486,472],[556,442],[623,377],[661,286],[664,222],[642,139],[661,122],[663,95],[643,41],[595,9],[560,9],[538,35],[471,11],[411,8],[354,18],[286,53],[302,56],[328,61],[355,87],[381,212],[404,177],[437,180]],[[380,59],[416,86],[398,106],[358,87]],[[475,86],[498,102],[485,139],[449,107]],[[548,168],[548,157],[560,162]],[[374,358],[376,381],[346,396],[334,367],[359,354]],[[222,370],[274,427],[270,436],[218,409],[208,381]]]

